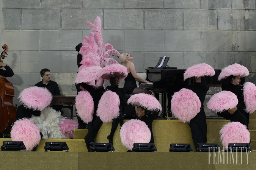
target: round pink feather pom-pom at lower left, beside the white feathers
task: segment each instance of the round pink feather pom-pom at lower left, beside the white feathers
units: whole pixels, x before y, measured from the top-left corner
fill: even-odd
[[[11,140],[22,141],[26,147],[26,151],[31,151],[36,147],[41,136],[38,127],[29,119],[17,120],[11,128]]]

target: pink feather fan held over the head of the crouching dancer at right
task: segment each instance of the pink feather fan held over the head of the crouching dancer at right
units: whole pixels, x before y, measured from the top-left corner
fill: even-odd
[[[207,103],[207,108],[215,112],[235,108],[238,104],[237,96],[230,91],[221,91],[214,94]]]

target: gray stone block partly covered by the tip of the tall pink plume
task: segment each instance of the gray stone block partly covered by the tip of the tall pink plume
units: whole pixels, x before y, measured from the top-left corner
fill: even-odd
[[[90,29],[87,21],[93,23],[97,16],[102,20],[102,9],[62,9],[61,29]]]

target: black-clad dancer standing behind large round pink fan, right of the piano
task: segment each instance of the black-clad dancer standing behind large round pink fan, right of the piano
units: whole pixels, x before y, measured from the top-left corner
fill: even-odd
[[[207,142],[207,125],[206,125],[206,115],[204,112],[204,99],[207,91],[209,90],[209,85],[206,84],[205,79],[201,78],[201,83],[195,82],[192,86],[187,87],[196,93],[201,101],[200,112],[190,120],[189,126],[191,128],[192,139],[197,151],[197,143],[206,143]]]

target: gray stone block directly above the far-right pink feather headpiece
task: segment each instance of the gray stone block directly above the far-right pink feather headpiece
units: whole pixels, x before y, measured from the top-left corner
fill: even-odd
[[[246,53],[219,52],[218,65],[219,69],[223,69],[231,64],[241,64],[246,67]]]

